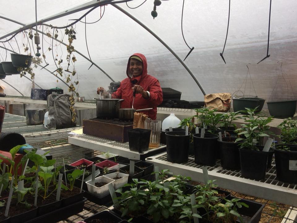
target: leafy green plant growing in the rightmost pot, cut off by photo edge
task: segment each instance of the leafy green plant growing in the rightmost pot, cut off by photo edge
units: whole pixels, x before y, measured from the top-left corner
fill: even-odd
[[[281,134],[278,135],[281,138],[283,144],[297,144],[295,139],[297,138],[297,120],[288,118],[278,125],[281,130]]]

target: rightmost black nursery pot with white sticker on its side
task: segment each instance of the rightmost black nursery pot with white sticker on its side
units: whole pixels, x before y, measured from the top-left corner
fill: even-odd
[[[289,148],[284,151],[279,148]],[[277,144],[275,145],[275,167],[276,177],[279,181],[297,184],[297,145]]]

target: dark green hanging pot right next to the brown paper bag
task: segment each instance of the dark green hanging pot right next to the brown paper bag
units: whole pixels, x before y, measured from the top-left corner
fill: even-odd
[[[245,110],[245,108],[257,108],[256,112],[260,112],[265,103],[263,98],[232,98],[234,112]]]

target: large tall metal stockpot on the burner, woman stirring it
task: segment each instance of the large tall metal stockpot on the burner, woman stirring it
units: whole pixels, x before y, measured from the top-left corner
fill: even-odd
[[[117,98],[94,98],[96,100],[98,118],[118,118],[118,109],[124,99]]]

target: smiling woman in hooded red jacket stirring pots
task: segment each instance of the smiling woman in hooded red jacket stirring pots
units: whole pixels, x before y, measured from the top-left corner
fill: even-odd
[[[148,64],[144,55],[133,54],[127,64],[127,78],[121,81],[120,87],[113,94],[109,94],[104,88],[99,87],[97,94],[101,91],[104,98],[122,98],[121,108],[132,108],[133,91],[136,98],[133,103],[134,109],[150,108],[143,111],[149,118],[157,118],[157,106],[163,101],[162,89],[157,78],[148,75]]]

